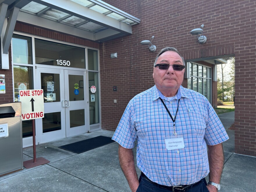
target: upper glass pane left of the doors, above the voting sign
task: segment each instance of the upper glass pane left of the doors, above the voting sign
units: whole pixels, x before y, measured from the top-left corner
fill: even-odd
[[[13,34],[13,63],[32,64],[31,38]]]

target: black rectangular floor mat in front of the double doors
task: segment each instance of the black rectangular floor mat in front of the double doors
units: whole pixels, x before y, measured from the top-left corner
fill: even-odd
[[[97,136],[90,139],[85,139],[83,141],[62,145],[59,148],[65,149],[74,153],[83,153],[83,152],[86,152],[86,151],[89,151],[113,142],[115,141],[113,141],[111,137]]]

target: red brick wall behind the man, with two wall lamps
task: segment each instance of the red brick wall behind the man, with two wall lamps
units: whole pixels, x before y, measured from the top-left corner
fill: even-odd
[[[235,54],[235,152],[256,156],[256,1],[105,2],[141,19],[141,23],[133,26],[132,35],[122,38],[125,41],[122,42],[120,38],[101,45],[100,65],[109,66],[107,70],[101,68],[101,80],[109,82],[101,81],[101,98],[107,97],[110,101],[106,103],[102,100],[102,129],[114,130],[123,113],[123,105],[137,93],[153,86],[153,61],[163,47],[176,47],[186,60]],[[205,25],[204,35],[207,36],[207,42],[203,45],[189,33],[201,24]],[[154,53],[140,44],[152,35],[155,36],[152,43],[157,46]],[[127,50],[129,58],[124,60],[121,56]],[[117,52],[118,58],[109,59],[111,52]],[[112,71],[116,72],[115,77],[112,77]],[[106,77],[108,72],[109,76]],[[111,87],[112,82],[118,86],[118,92],[109,88],[110,92],[106,94],[103,90]],[[186,81],[183,85],[186,87]],[[215,82],[212,86],[216,89]],[[113,105],[113,99],[122,99],[122,102]],[[108,123],[109,119],[111,124]]]

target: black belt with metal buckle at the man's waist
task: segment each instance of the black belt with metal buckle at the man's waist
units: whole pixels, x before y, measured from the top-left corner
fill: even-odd
[[[167,190],[170,190],[170,191],[173,191],[173,192],[185,192],[185,191],[188,191],[189,189],[191,189],[192,187],[195,187],[197,186],[198,184],[200,184],[202,182],[202,180],[204,179],[201,179],[200,181],[194,183],[194,184],[191,184],[191,185],[177,185],[177,186],[165,186],[165,185],[160,185],[160,184],[157,184],[155,182],[152,182],[149,178],[147,178],[147,176],[141,172],[141,176],[143,177],[143,179],[145,179],[147,182],[151,183],[151,184],[154,184],[156,186],[159,186],[160,188],[163,188],[163,189],[167,189]]]

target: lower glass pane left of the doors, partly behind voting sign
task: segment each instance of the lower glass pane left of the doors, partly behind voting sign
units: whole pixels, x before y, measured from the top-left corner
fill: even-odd
[[[18,101],[19,90],[33,89],[33,68],[13,65],[14,77],[14,101]],[[32,132],[32,120],[22,121],[22,137],[30,137]]]

